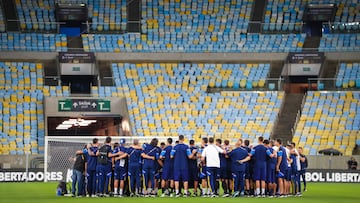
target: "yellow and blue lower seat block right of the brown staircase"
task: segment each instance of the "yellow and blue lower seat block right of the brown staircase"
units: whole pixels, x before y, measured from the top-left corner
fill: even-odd
[[[308,92],[293,141],[316,155],[325,148],[351,155],[360,143],[360,92]]]

